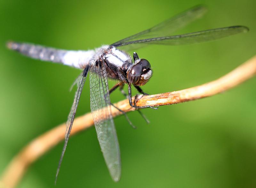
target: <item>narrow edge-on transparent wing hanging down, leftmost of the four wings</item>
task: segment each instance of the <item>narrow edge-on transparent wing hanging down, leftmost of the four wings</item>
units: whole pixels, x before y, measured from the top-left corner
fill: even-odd
[[[76,109],[77,109],[77,106],[78,106],[78,103],[79,103],[79,100],[80,100],[80,96],[81,96],[81,93],[82,93],[82,90],[83,90],[83,87],[84,87],[84,83],[85,83],[88,71],[89,71],[89,65],[87,65],[87,67],[85,67],[84,71],[79,76],[80,81],[79,81],[79,83],[77,83],[77,91],[76,91],[75,99],[74,99],[72,108],[71,108],[71,110],[69,112],[69,115],[68,115],[68,121],[67,121],[67,124],[66,124],[67,125],[67,130],[66,130],[66,134],[65,134],[65,142],[64,142],[64,147],[62,149],[62,153],[61,153],[57,173],[56,173],[55,184],[56,184],[57,177],[58,177],[58,174],[59,174],[59,171],[60,171],[60,165],[61,165],[64,153],[65,153],[65,150],[66,150],[66,147],[67,147],[67,144],[68,144],[68,138],[69,138],[71,128],[72,128],[72,125],[73,125],[73,122],[74,122],[74,119],[75,119],[75,116],[76,116]]]

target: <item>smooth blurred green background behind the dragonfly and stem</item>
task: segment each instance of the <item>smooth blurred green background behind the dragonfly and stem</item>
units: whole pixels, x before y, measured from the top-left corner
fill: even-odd
[[[80,70],[29,59],[5,48],[8,40],[61,49],[93,49],[140,32],[196,4],[209,11],[176,34],[245,25],[246,34],[193,46],[138,49],[154,76],[150,94],[203,84],[236,68],[256,52],[254,0],[0,1],[0,173],[31,139],[67,119]],[[88,81],[88,80],[87,80]],[[110,81],[113,85],[114,81]],[[256,79],[216,96],[143,109],[115,118],[122,178],[114,183],[95,129],[73,136],[56,187],[256,187]],[[125,87],[127,89],[127,87]],[[135,94],[135,90],[133,90]],[[123,99],[116,91],[112,102]],[[89,82],[77,115],[90,111]],[[32,166],[20,188],[54,187],[63,142]]]

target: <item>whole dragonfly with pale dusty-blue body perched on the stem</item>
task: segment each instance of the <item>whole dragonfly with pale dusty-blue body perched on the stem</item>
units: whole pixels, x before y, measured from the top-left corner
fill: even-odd
[[[83,70],[75,81],[77,91],[68,115],[65,142],[55,183],[88,74],[90,79],[91,112],[100,148],[112,179],[119,181],[121,177],[121,157],[111,113],[111,105],[113,104],[110,102],[109,94],[116,90],[116,88],[119,88],[125,94],[123,86],[127,84],[128,95],[125,95],[128,97],[132,107],[137,109],[154,108],[151,106],[136,106],[136,102],[132,101],[132,86],[139,93],[147,95],[147,93],[143,92],[141,86],[145,85],[151,78],[152,68],[147,59],[139,58],[136,52],[132,56],[128,52],[149,44],[172,46],[190,45],[249,31],[246,26],[229,26],[187,34],[171,35],[181,27],[201,18],[206,11],[207,9],[202,5],[195,6],[147,30],[114,42],[111,45],[103,45],[93,50],[63,50],[13,41],[7,43],[9,49],[16,50],[25,56]],[[108,79],[117,80],[117,84],[111,89],[108,88]],[[119,110],[122,112],[121,109]]]

